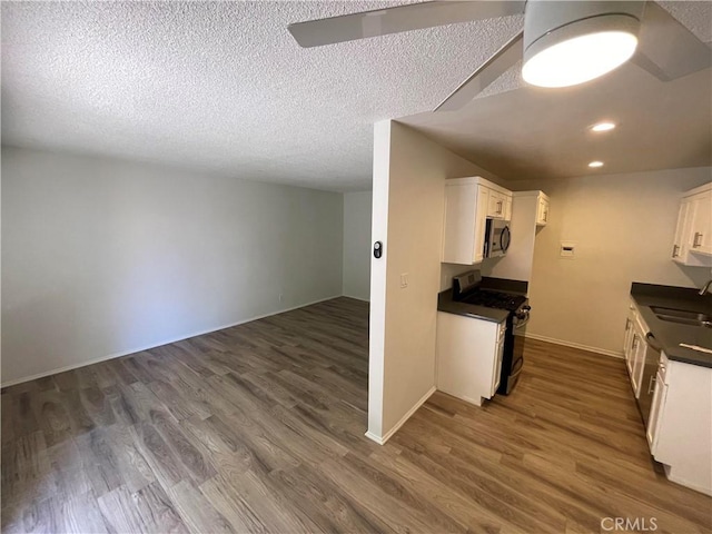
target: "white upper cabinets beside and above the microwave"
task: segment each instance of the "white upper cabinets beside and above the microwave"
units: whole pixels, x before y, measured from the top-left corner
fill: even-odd
[[[445,180],[442,261],[481,263],[487,218],[503,219],[507,212],[512,212],[512,191],[481,177]]]

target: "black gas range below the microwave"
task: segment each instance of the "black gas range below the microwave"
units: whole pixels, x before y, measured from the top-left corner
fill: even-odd
[[[521,291],[525,283],[487,279],[483,284],[478,270],[471,270],[453,278],[453,300],[508,312],[502,357],[502,375],[497,393],[508,395],[514,389],[524,368],[524,334],[530,320],[528,299]],[[507,283],[508,281],[508,283]],[[507,290],[503,289],[504,287]],[[526,290],[526,289],[524,289]]]

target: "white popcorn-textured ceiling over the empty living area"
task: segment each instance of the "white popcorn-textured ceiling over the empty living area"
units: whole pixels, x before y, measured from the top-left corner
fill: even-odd
[[[463,113],[432,116],[439,134],[419,115],[514,36],[522,17],[313,49],[299,48],[286,31],[290,22],[396,3],[405,2],[2,2],[2,142],[362,190],[370,187],[377,120],[417,116],[404,120],[456,145],[458,129],[472,129],[468,113],[482,131],[505,122],[514,131],[520,113],[540,109],[531,89],[503,93],[521,87],[513,69],[487,91],[492,96]],[[712,40],[712,2],[661,3]],[[641,76],[623,80],[635,82],[626,90],[634,95],[642,85],[654,92],[662,86]],[[684,100],[682,91],[699,98],[692,85],[670,89],[671,98]],[[511,98],[515,103],[502,100]],[[576,106],[605,102],[589,100]],[[627,105],[640,115],[639,100]],[[709,107],[702,113],[709,123]],[[558,128],[571,128],[574,119],[581,117],[540,128],[530,145],[555,147]],[[503,176],[522,177],[506,169],[508,160],[515,169],[522,165],[507,157],[518,152],[518,138],[506,144],[508,135],[495,137],[498,151],[491,165]],[[454,148],[481,157],[488,152],[487,145],[477,145],[483,142],[475,136]]]

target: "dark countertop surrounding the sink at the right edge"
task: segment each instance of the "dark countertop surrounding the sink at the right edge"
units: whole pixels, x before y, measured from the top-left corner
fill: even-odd
[[[703,314],[712,313],[712,295],[700,296],[698,290],[688,287],[659,286],[633,283],[631,297],[640,309],[641,317],[663,346],[668,357],[675,362],[712,367],[712,354],[681,347],[681,343],[712,349],[712,328],[681,325],[659,319],[651,306],[685,309]]]

